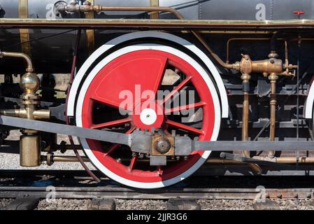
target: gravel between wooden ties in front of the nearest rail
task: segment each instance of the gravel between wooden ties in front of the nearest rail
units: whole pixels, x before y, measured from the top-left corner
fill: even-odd
[[[10,200],[11,201],[11,200]],[[1,201],[8,204],[10,201]],[[41,200],[38,210],[86,210],[91,200],[62,200],[52,202]],[[264,210],[314,210],[314,200],[269,200],[269,203],[261,203],[258,208]],[[255,210],[253,200],[197,200],[201,210]],[[166,200],[115,200],[116,210],[167,210]]]

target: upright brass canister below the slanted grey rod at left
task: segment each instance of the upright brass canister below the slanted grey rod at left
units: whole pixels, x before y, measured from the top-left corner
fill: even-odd
[[[38,167],[41,165],[41,136],[38,133],[20,137],[20,165],[22,167]]]

